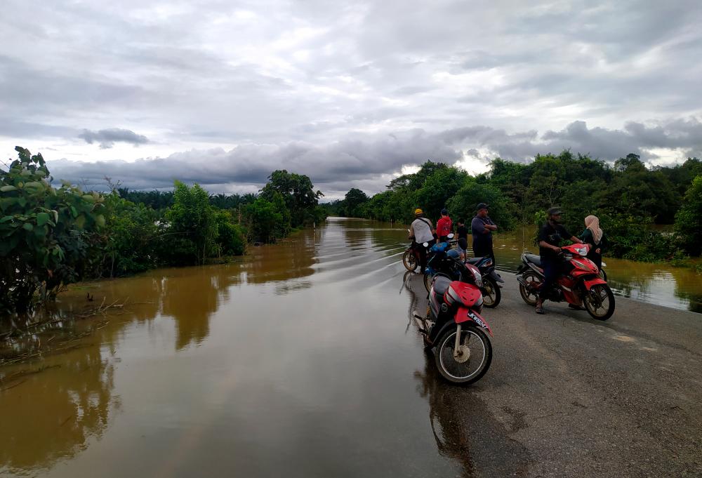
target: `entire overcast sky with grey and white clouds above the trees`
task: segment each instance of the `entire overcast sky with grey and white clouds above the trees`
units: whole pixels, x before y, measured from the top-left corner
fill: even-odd
[[[527,6],[528,5],[528,6]],[[0,150],[55,178],[328,198],[427,159],[702,157],[698,1],[0,4]]]

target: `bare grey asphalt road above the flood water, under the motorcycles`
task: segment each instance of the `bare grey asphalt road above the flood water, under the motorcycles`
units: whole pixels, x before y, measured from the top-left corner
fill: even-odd
[[[483,314],[491,369],[429,391],[446,450],[470,455],[465,474],[702,477],[702,315],[620,297],[609,321],[566,303],[538,315],[503,277]]]

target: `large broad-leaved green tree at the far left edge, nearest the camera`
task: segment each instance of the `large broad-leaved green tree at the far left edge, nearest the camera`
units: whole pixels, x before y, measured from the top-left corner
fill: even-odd
[[[15,147],[19,159],[0,170],[0,309],[25,312],[55,297],[63,284],[94,270],[105,225],[102,197],[64,183],[51,186],[41,154]]]

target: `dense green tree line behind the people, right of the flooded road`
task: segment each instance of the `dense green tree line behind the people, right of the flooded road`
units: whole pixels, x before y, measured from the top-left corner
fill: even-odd
[[[444,207],[454,220],[468,219],[479,202],[490,205],[501,230],[542,223],[552,206],[562,208],[572,232],[595,214],[613,257],[682,261],[702,252],[702,161],[697,158],[647,168],[636,154],[609,163],[566,150],[538,154],[529,164],[494,159],[479,175],[427,161],[373,197],[354,188],[324,207],[331,215],[410,223],[415,208],[434,220]],[[674,232],[651,225],[674,225]]]

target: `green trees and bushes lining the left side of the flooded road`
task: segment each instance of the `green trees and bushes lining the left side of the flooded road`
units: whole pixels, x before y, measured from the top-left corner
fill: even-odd
[[[15,150],[18,159],[0,168],[0,314],[84,279],[226,260],[326,218],[322,192],[285,170],[258,194],[211,196],[180,181],[173,191],[136,192],[109,178],[110,192],[86,192],[54,187],[41,154]]]

